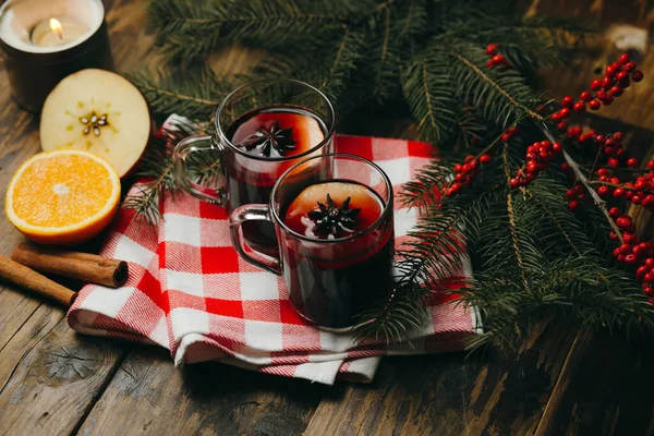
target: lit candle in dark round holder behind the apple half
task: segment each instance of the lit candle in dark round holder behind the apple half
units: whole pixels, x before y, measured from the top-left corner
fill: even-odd
[[[0,8],[0,48],[13,97],[34,113],[66,75],[113,71],[100,0],[9,0]]]

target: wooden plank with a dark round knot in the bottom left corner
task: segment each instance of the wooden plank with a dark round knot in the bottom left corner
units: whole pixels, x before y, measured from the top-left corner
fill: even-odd
[[[0,351],[0,427],[8,434],[70,434],[126,350],[78,338],[63,311],[40,305]]]

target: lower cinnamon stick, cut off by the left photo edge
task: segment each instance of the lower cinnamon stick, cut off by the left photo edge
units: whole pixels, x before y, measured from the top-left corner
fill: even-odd
[[[70,289],[4,256],[0,256],[0,278],[61,303],[66,307],[73,304],[77,296]]]

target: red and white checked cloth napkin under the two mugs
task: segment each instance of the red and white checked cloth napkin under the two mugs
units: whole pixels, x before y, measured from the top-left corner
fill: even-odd
[[[424,143],[354,136],[338,136],[337,150],[374,160],[396,194],[434,153]],[[356,343],[351,335],[319,330],[295,313],[281,277],[237,255],[223,208],[187,195],[175,195],[174,202],[167,195],[161,204],[157,229],[120,210],[101,254],[129,262],[129,281],[120,289],[84,287],[69,312],[73,329],[166,347],[175,365],[219,360],[324,384],[337,377],[371,382],[383,355],[458,351],[479,331],[475,311],[438,293],[411,343]],[[401,245],[416,210],[395,207]],[[470,275],[465,261],[438,288],[457,289]]]

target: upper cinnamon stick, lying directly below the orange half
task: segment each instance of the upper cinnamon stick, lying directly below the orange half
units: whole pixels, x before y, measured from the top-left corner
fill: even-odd
[[[128,280],[128,264],[97,254],[74,253],[19,245],[11,258],[43,272],[56,274],[88,283],[119,288]]]

